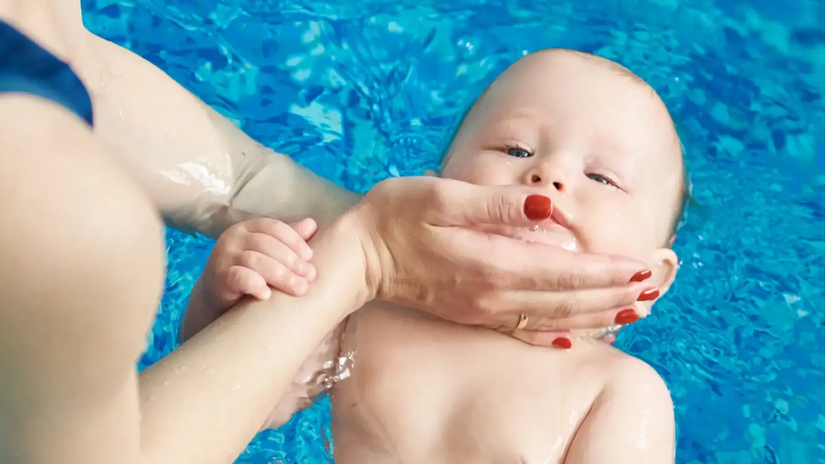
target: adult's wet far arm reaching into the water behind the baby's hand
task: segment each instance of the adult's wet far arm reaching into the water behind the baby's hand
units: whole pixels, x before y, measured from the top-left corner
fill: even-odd
[[[82,33],[73,66],[92,92],[95,133],[173,227],[217,237],[252,215],[323,224],[360,200],[252,140],[152,63]]]

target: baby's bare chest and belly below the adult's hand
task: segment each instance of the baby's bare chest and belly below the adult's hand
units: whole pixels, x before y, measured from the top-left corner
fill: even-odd
[[[604,384],[579,351],[404,308],[374,305],[351,324],[355,365],[332,394],[339,464],[562,462]]]

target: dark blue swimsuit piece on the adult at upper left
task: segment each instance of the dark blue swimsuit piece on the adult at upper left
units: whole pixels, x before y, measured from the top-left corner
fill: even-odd
[[[42,96],[92,125],[92,99],[72,68],[0,21],[0,93],[3,92]]]

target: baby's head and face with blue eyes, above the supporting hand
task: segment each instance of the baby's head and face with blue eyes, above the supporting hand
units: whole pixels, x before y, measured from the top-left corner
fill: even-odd
[[[679,138],[653,88],[608,59],[566,49],[520,59],[464,117],[441,174],[542,190],[566,224],[527,240],[643,260],[662,293],[676,276]]]

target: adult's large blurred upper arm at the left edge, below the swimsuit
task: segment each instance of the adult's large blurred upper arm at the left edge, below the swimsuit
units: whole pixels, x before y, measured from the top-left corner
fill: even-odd
[[[136,464],[157,212],[50,101],[0,94],[0,152],[0,462]]]

